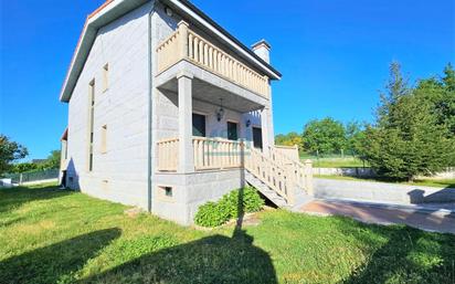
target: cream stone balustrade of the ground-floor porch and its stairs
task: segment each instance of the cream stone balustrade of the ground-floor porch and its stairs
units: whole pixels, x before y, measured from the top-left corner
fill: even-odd
[[[191,140],[192,172],[234,168],[245,170],[282,197],[287,206],[295,204],[296,190],[313,194],[311,161],[301,164],[292,158],[298,155],[296,147],[271,146],[268,155],[265,155],[244,140],[205,137],[192,137]],[[179,138],[157,143],[158,172],[179,172]]]

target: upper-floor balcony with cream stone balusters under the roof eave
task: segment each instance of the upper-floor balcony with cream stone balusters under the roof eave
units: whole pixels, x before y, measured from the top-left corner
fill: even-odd
[[[157,48],[158,75],[180,61],[188,61],[264,98],[269,96],[263,76],[189,29],[186,22]]]

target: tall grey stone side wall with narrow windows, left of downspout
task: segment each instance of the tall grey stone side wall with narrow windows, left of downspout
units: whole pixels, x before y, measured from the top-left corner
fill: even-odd
[[[68,186],[147,206],[148,13],[151,2],[99,29],[68,103]],[[103,66],[108,63],[108,90]],[[88,171],[88,84],[95,80],[94,166]],[[107,152],[100,150],[107,125]]]

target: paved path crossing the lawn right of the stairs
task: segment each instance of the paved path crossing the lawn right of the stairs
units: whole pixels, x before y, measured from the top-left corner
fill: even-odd
[[[301,212],[324,215],[347,215],[366,223],[408,224],[425,231],[455,234],[455,210],[444,204],[428,207],[373,204],[340,200],[315,200],[301,207]]]

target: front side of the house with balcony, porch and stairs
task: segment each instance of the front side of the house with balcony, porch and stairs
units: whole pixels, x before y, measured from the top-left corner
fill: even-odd
[[[184,210],[191,220],[244,181],[279,207],[313,194],[311,164],[274,147],[269,78],[237,55],[186,22],[156,49],[155,178],[158,196],[174,194],[156,201],[166,215]]]

